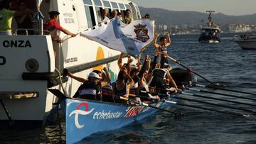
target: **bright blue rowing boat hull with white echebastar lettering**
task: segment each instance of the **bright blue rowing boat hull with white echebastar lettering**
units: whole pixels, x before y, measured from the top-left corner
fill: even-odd
[[[159,102],[161,109],[173,106]],[[121,128],[139,121],[157,110],[149,106],[130,106],[83,99],[65,100],[66,143],[75,143],[92,133]]]

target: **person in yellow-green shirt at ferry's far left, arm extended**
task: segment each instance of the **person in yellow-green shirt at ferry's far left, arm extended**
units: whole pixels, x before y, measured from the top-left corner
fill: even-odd
[[[11,21],[14,16],[22,16],[30,11],[10,11],[11,2],[0,0],[0,35],[11,35]],[[4,28],[4,30],[1,30]]]

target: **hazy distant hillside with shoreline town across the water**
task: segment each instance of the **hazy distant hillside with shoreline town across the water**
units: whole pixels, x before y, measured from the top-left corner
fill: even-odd
[[[149,13],[151,19],[156,20],[157,24],[181,25],[186,23],[190,26],[206,23],[208,14],[196,11],[169,11],[166,9],[139,7],[142,16]],[[228,16],[223,13],[214,13],[215,23],[256,23],[256,13],[244,16]]]

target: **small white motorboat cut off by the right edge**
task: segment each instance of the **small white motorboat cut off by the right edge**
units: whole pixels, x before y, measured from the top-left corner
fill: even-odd
[[[233,39],[243,50],[256,50],[256,35],[242,34],[240,37],[235,35]]]

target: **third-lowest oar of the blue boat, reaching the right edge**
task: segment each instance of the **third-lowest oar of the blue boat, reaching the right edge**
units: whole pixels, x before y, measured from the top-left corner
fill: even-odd
[[[143,92],[144,93],[149,93],[149,92],[146,92],[146,91],[143,91]],[[168,96],[169,94],[160,94],[160,95]],[[215,103],[210,103],[210,102],[206,102],[206,101],[199,101],[199,100],[196,100],[196,99],[187,99],[187,98],[180,97],[180,96],[171,96],[171,98],[183,99],[183,100],[186,100],[186,101],[194,101],[194,102],[198,102],[198,103],[201,103],[201,104],[209,104],[209,105],[213,105],[213,106],[220,106],[220,107],[224,107],[224,108],[238,109],[238,110],[242,110],[242,111],[248,111],[250,113],[256,113],[256,111],[252,111],[252,110],[249,110],[249,109],[242,109],[242,108],[237,108],[237,107],[233,107],[233,106],[225,106],[225,105],[222,105],[222,104],[215,104]]]

